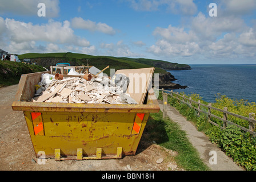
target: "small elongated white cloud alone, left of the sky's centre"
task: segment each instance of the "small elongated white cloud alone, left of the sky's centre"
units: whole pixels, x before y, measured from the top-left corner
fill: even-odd
[[[91,20],[85,20],[81,17],[75,17],[71,20],[71,26],[73,28],[79,28],[79,29],[84,29],[84,30],[89,30],[89,31],[99,31],[104,34],[109,34],[109,35],[114,35],[115,30],[114,28],[108,26],[106,23],[95,23],[92,22]]]

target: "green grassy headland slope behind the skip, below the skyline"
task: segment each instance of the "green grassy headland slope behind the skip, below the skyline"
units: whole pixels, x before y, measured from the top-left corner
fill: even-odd
[[[114,68],[115,70],[118,69],[136,69],[136,68],[149,68],[154,67],[153,62],[154,61],[160,61],[160,60],[150,60],[150,59],[132,59],[127,57],[112,57],[112,56],[91,56],[91,55],[85,55],[81,53],[26,53],[23,55],[19,55],[19,59],[23,58],[30,58],[30,59],[36,59],[36,58],[47,58],[47,57],[55,57],[55,58],[62,58],[63,61],[72,60],[72,62],[75,62],[76,65],[86,65],[87,61],[86,59],[89,59],[89,64],[94,65],[95,67],[99,69],[103,69],[107,67],[107,65],[110,65],[110,68]],[[161,61],[166,64],[171,64],[167,61]],[[177,64],[175,64],[177,65]],[[180,67],[182,67],[181,64],[178,64]],[[107,70],[105,73],[108,74],[110,72]],[[155,67],[155,73],[165,73],[166,71],[162,68]]]

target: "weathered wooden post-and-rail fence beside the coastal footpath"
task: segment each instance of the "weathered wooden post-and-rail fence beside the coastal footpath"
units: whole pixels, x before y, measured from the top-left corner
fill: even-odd
[[[155,90],[160,90],[160,89],[155,89]],[[230,124],[230,125],[236,125],[237,127],[241,128],[241,130],[249,132],[250,134],[253,134],[253,135],[256,134],[256,132],[253,131],[254,128],[255,128],[255,124],[256,124],[256,120],[254,119],[254,115],[255,115],[254,113],[250,113],[249,117],[244,117],[244,116],[239,115],[239,114],[231,113],[230,111],[228,111],[227,107],[224,107],[223,109],[219,109],[219,108],[211,106],[211,103],[209,103],[208,105],[205,105],[205,104],[202,104],[201,101],[194,101],[194,100],[192,100],[191,97],[187,98],[185,96],[182,96],[178,92],[177,93],[173,92],[173,90],[169,91],[169,90],[163,90],[162,89],[161,91],[163,92],[163,117],[167,116],[167,96],[171,96],[171,97],[176,98],[180,102],[190,106],[191,108],[197,110],[198,111],[198,116],[200,115],[200,113],[207,114],[208,115],[208,122],[215,125],[215,126],[221,127],[221,129],[225,129],[227,124]],[[179,98],[179,97],[181,97],[182,99]],[[192,103],[196,104],[197,107],[193,106]],[[208,111],[202,110],[201,106],[207,107]],[[222,112],[223,113],[223,118],[212,114],[211,110],[217,110],[217,111]],[[240,118],[240,119],[244,119],[245,121],[248,121],[249,122],[249,129],[246,129],[243,126],[240,126],[240,125],[237,125],[236,123],[228,121],[228,115],[233,115],[234,117],[237,117],[237,118]],[[217,119],[223,121],[223,126],[219,126],[217,123],[211,121],[211,117],[214,117],[214,118],[217,118]]]

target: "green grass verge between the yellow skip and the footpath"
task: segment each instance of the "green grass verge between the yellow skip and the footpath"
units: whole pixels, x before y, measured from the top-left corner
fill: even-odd
[[[210,168],[199,157],[197,150],[189,142],[185,131],[171,119],[163,119],[162,112],[151,113],[145,128],[147,140],[154,140],[162,147],[177,151],[175,161],[187,171],[209,171]]]

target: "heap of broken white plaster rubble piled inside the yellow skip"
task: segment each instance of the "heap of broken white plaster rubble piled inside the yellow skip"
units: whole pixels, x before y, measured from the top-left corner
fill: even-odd
[[[109,77],[91,78],[64,77],[55,80],[53,75],[43,74],[41,82],[31,102],[59,102],[78,104],[137,104],[124,93],[121,86],[115,85]]]

